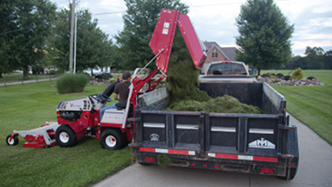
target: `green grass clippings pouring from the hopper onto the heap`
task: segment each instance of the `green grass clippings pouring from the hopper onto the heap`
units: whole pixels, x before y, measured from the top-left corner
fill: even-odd
[[[170,101],[166,110],[262,114],[258,107],[240,103],[228,95],[210,98],[206,92],[198,89],[199,73],[191,60],[181,33],[177,30],[166,79]]]

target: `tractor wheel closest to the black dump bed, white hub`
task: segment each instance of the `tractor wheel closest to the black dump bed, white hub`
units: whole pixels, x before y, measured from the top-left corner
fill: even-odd
[[[106,129],[101,133],[100,145],[104,149],[121,149],[127,143],[126,134],[116,129]]]

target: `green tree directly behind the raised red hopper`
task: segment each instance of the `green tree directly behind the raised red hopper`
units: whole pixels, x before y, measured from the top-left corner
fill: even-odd
[[[188,13],[188,6],[180,0],[125,0],[124,29],[115,39],[119,46],[119,64],[124,69],[143,67],[154,56],[149,42],[162,8]],[[151,64],[149,68],[155,67]]]

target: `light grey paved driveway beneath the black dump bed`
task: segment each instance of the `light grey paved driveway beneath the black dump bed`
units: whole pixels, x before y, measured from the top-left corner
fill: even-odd
[[[297,119],[291,117],[291,121],[298,127],[300,147],[299,168],[291,181],[253,174],[134,164],[94,186],[331,187],[332,146]]]

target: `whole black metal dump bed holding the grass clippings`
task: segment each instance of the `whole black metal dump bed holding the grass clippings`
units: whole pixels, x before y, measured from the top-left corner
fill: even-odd
[[[149,93],[133,120],[135,143],[130,146],[139,163],[157,164],[162,154],[171,158],[170,165],[183,167],[284,177],[290,169],[296,173],[296,127],[286,117],[281,94],[266,83],[203,83],[200,89],[213,98],[233,96],[265,114],[163,111],[165,91],[158,97]]]

